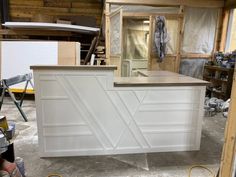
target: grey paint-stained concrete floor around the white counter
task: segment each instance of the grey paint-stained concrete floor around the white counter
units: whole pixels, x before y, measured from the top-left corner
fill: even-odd
[[[188,177],[192,165],[206,165],[217,173],[224,137],[226,119],[218,114],[205,117],[201,150],[114,156],[40,158],[34,101],[25,101],[23,110],[29,118],[24,122],[11,100],[4,100],[1,115],[16,123],[16,157],[24,158],[27,177],[46,177],[58,173],[63,177]],[[208,172],[195,169],[192,177],[208,177]]]

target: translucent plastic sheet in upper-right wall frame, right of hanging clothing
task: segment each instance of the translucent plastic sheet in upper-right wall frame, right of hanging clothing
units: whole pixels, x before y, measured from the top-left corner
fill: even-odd
[[[183,53],[211,54],[214,46],[218,9],[186,8]]]

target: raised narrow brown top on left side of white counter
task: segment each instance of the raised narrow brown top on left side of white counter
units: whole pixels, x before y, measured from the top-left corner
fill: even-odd
[[[62,66],[62,65],[33,65],[30,66],[33,70],[116,70],[117,66],[113,65],[78,65],[78,66]]]

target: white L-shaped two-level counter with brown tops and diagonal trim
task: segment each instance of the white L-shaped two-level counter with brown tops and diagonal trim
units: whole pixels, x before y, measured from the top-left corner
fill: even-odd
[[[41,157],[199,150],[208,82],[115,66],[31,66]]]

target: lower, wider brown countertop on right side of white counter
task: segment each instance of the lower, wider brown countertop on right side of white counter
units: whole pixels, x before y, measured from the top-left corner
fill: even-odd
[[[206,86],[209,82],[169,71],[142,71],[146,77],[116,77],[115,87]]]

